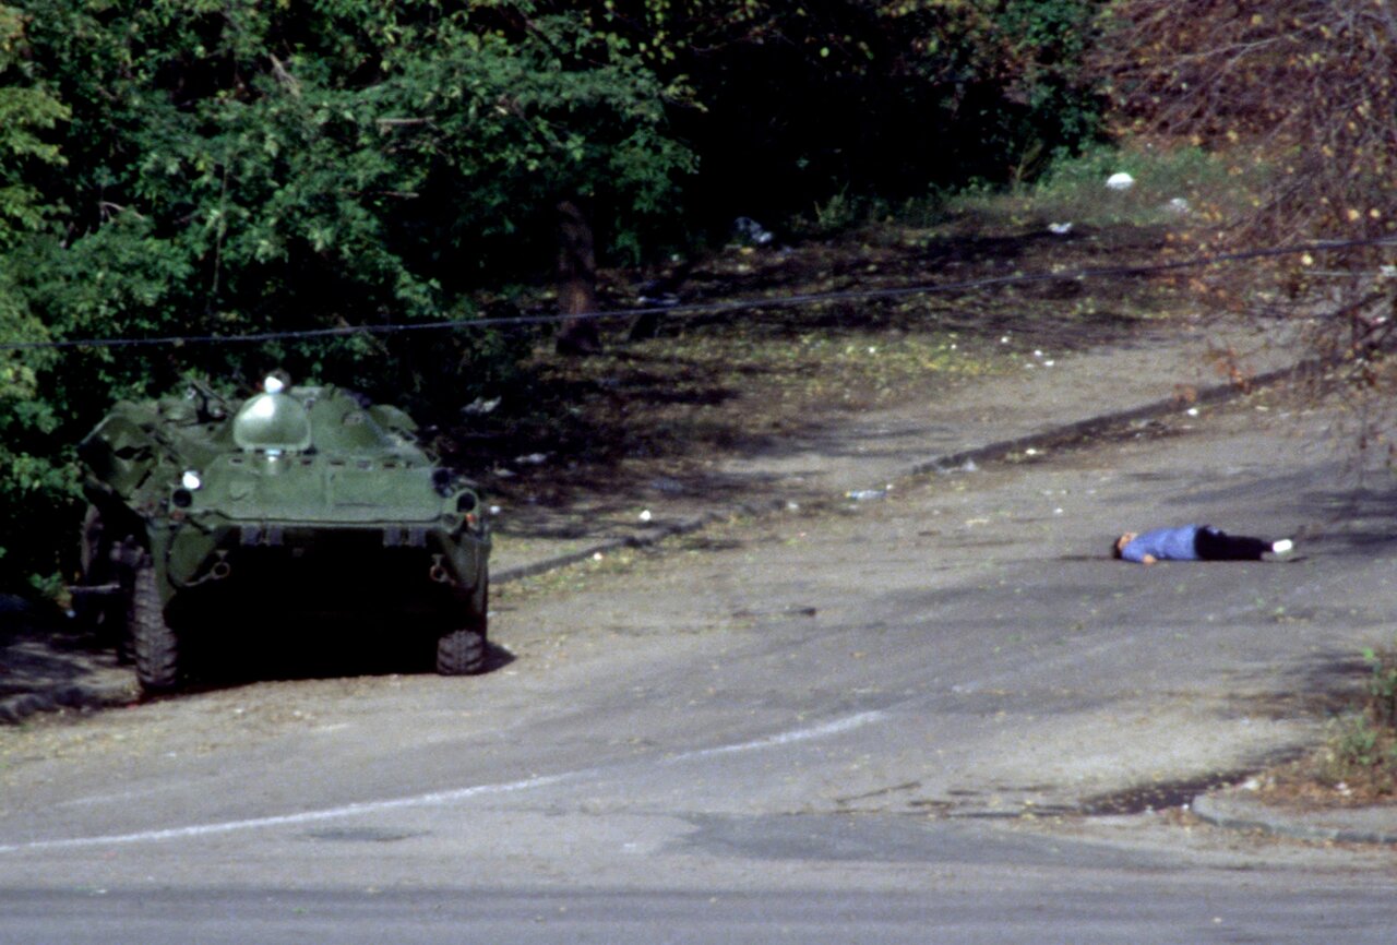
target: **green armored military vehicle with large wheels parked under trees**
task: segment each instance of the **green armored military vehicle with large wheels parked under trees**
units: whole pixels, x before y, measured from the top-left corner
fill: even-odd
[[[145,691],[179,685],[187,643],[272,621],[281,639],[312,625],[328,641],[420,635],[437,671],[482,669],[479,491],[402,410],[284,375],[242,402],[194,384],[117,403],[78,456],[91,507],[75,600],[122,627]]]

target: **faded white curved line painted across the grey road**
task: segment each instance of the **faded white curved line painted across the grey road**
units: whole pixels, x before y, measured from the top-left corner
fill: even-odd
[[[698,761],[703,758],[714,758],[718,755],[732,755],[745,751],[760,751],[761,748],[780,748],[781,745],[789,745],[800,741],[810,741],[814,738],[824,738],[828,736],[841,734],[861,726],[879,722],[886,717],[886,713],[861,712],[858,715],[851,715],[844,719],[834,719],[833,722],[826,722],[824,724],[813,726],[810,729],[796,729],[793,731],[782,731],[780,734],[767,736],[766,738],[756,738],[753,741],[743,741],[735,745],[719,745],[717,748],[700,748],[696,751],[689,751],[682,755],[675,755],[673,758],[666,758],[664,764],[675,765],[685,761]],[[490,794],[513,794],[518,791],[532,790],[535,787],[546,787],[549,784],[557,784],[566,780],[577,780],[581,777],[604,773],[605,768],[585,768],[581,771],[563,772],[559,775],[541,775],[538,777],[525,777],[515,782],[504,782],[500,784],[475,784],[472,787],[458,787],[446,791],[432,791],[427,794],[415,794],[412,797],[395,797],[384,801],[360,801],[356,804],[344,804],[341,807],[327,807],[319,811],[302,811],[300,814],[281,814],[277,817],[256,817],[243,821],[224,821],[221,824],[196,824],[191,826],[172,826],[162,831],[138,831],[134,833],[110,833],[105,836],[75,836],[63,840],[29,840],[27,843],[6,843],[0,844],[0,854],[4,853],[24,853],[34,850],[66,850],[78,849],[88,846],[116,846],[124,843],[152,843],[161,840],[183,840],[203,836],[214,836],[219,833],[236,833],[240,831],[256,831],[268,826],[296,826],[300,824],[316,824],[320,821],[331,821],[344,817],[356,817],[359,814],[379,814],[383,811],[405,810],[412,807],[437,807],[441,804],[454,804],[457,801],[469,800],[472,797],[485,797]]]

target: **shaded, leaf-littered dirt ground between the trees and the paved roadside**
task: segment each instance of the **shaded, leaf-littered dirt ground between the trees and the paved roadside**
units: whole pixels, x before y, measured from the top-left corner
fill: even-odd
[[[682,275],[606,272],[606,310],[644,306],[657,281],[682,306],[752,306],[609,321],[605,350],[591,357],[559,357],[539,343],[521,382],[493,409],[448,424],[441,447],[515,522],[577,504],[606,511],[615,497],[629,505],[647,493],[731,500],[735,486],[715,472],[715,458],[781,449],[907,405],[951,405],[985,378],[1020,378],[1034,362],[1051,370],[1063,355],[1206,321],[1172,278],[908,293],[1143,262],[1162,239],[1141,229],[1053,236],[1037,228],[989,237],[950,223],[728,247]],[[880,290],[890,295],[866,295]],[[800,306],[760,304],[828,293]],[[549,304],[535,299],[524,311]]]

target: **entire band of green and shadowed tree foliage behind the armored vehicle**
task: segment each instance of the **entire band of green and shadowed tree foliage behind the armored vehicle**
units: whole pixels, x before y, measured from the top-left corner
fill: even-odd
[[[0,338],[425,325],[548,278],[560,204],[604,261],[638,260],[738,214],[1031,173],[1091,133],[1098,3],[0,6]],[[73,501],[64,449],[116,396],[275,362],[444,413],[520,350],[469,331],[6,355],[0,533]]]

